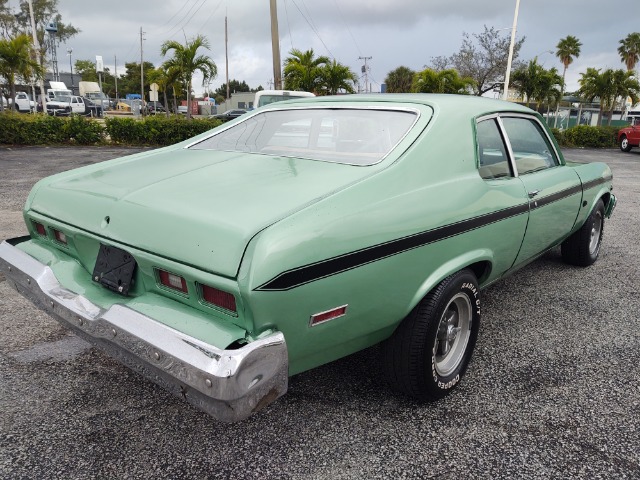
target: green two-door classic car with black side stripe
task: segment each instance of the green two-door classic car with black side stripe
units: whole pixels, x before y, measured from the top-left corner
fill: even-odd
[[[610,169],[565,162],[517,104],[317,97],[45,178],[0,271],[223,421],[379,342],[386,382],[426,401],[467,369],[481,290],[557,245],[592,264],[615,203]]]

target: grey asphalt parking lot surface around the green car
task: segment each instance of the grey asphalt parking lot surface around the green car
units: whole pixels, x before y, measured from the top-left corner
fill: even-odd
[[[0,149],[0,239],[26,232],[39,178],[134,151]],[[640,152],[565,156],[614,173],[599,260],[571,267],[555,249],[484,290],[469,371],[434,404],[381,385],[373,347],[218,423],[0,277],[0,478],[640,478]]]

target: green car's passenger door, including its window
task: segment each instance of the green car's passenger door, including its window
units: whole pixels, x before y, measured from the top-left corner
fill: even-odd
[[[500,123],[529,201],[529,222],[514,263],[517,266],[568,235],[580,210],[582,184],[574,169],[561,163],[536,117],[501,116]]]

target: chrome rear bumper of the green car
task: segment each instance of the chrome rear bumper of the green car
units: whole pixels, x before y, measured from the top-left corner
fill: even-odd
[[[51,268],[15,247],[28,239],[0,243],[0,273],[8,283],[146,378],[224,422],[247,418],[286,393],[288,356],[282,333],[222,350],[124,305],[100,308],[62,287]]]

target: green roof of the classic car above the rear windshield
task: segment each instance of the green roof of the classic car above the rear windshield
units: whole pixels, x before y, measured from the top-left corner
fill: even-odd
[[[434,108],[434,110],[440,110],[443,112],[464,110],[467,114],[474,117],[500,111],[533,113],[533,110],[514,102],[505,102],[503,100],[478,97],[475,95],[447,95],[432,93],[377,93],[307,97],[288,100],[286,102],[276,102],[263,108],[287,108],[291,105],[302,106],[325,103],[331,103],[336,106],[347,103],[356,105],[359,103],[415,104],[430,106]]]

